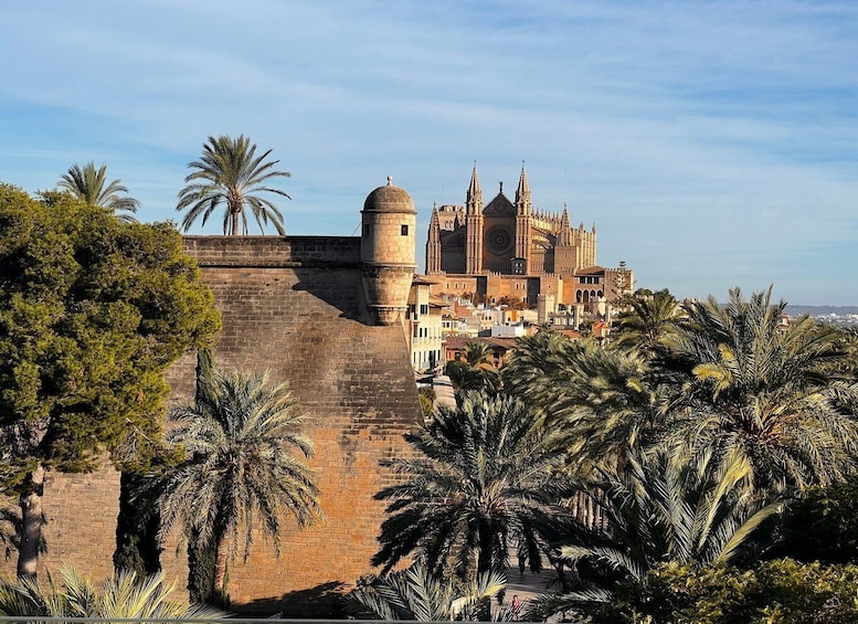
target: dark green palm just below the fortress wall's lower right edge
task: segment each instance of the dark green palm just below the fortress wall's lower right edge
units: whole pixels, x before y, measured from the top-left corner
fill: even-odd
[[[541,529],[566,493],[555,478],[562,456],[540,444],[533,414],[516,399],[472,392],[458,402],[405,436],[416,458],[386,464],[405,480],[375,496],[391,504],[372,563],[390,570],[414,554],[433,572],[452,568],[473,581],[505,570],[511,539],[540,570]]]

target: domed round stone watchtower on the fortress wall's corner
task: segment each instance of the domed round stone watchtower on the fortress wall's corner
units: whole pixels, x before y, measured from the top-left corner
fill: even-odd
[[[417,211],[404,189],[388,178],[361,211],[360,261],[367,306],[375,325],[404,319],[414,262]]]

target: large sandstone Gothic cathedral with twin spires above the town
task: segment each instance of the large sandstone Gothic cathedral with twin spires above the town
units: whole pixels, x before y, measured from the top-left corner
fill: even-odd
[[[631,269],[596,264],[595,225],[573,228],[565,207],[560,214],[533,207],[523,166],[513,200],[501,182],[484,204],[475,166],[465,204],[433,209],[426,274],[448,295],[489,304],[507,297],[531,307],[540,295],[591,307],[632,285]]]

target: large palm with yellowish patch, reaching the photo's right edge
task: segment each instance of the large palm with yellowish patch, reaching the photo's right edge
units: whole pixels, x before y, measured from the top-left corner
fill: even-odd
[[[685,410],[670,423],[691,455],[714,451],[743,458],[756,487],[801,488],[839,480],[855,468],[858,423],[851,345],[807,316],[782,326],[784,302],[772,289],[721,306],[685,306],[687,320],[670,341],[689,374]]]

